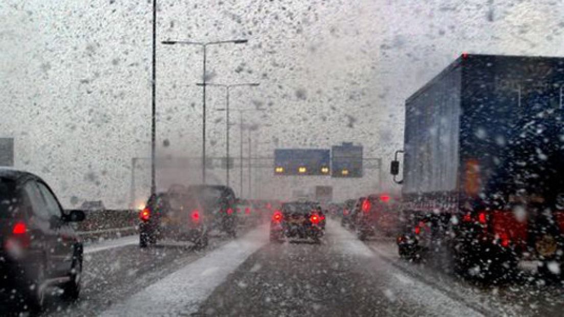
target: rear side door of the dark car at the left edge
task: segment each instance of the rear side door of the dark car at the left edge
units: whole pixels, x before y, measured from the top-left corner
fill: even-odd
[[[22,191],[27,196],[31,207],[29,230],[33,244],[45,256],[44,264],[47,274],[52,275],[56,271],[55,245],[58,238],[56,229],[58,223],[51,218],[46,202],[35,180],[30,179],[25,182],[22,186]]]

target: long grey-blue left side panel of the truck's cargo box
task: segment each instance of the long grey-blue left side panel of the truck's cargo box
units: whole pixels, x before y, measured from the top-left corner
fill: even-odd
[[[406,102],[404,193],[456,190],[461,68],[455,63]]]

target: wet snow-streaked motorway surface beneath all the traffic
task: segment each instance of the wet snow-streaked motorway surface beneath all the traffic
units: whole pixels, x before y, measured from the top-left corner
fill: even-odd
[[[236,240],[214,237],[205,252],[179,244],[139,250],[132,241],[89,246],[81,300],[55,300],[47,314],[555,315],[561,304],[401,261],[389,240],[363,243],[334,221],[321,245],[270,243],[267,224]]]

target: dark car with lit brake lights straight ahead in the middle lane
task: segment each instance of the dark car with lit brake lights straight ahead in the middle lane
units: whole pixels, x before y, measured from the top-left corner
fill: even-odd
[[[324,235],[324,216],[311,202],[287,202],[272,214],[270,241],[311,239],[320,243]],[[323,217],[323,221],[321,220]]]

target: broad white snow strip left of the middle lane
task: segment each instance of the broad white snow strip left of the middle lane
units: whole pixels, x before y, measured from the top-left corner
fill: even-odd
[[[102,316],[176,316],[196,312],[231,272],[268,241],[268,225],[250,231],[117,303]]]

